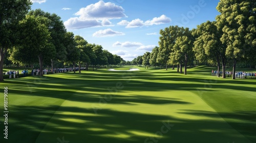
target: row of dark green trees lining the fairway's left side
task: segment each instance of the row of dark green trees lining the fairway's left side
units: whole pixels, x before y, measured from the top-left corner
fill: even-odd
[[[120,56],[103,50],[101,45],[88,43],[83,37],[67,32],[56,14],[40,9],[30,10],[30,0],[0,0],[0,81],[3,81],[4,59],[19,65],[33,65],[39,61],[40,76],[43,65],[64,62],[94,66],[117,65]],[[8,56],[8,57],[5,57]]]

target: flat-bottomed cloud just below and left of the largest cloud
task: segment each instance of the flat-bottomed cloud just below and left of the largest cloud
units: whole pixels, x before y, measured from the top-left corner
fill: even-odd
[[[67,29],[82,29],[89,27],[102,26],[97,20],[81,20],[78,17],[72,17],[64,22]]]

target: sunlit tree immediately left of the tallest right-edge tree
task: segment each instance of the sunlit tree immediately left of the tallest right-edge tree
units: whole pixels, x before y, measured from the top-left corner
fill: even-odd
[[[207,60],[208,62],[217,63],[218,77],[220,77],[220,66],[222,62],[222,78],[225,76],[226,67],[226,45],[221,42],[223,32],[218,30],[216,21],[206,21],[197,26],[193,31],[196,38],[193,51],[199,61]]]

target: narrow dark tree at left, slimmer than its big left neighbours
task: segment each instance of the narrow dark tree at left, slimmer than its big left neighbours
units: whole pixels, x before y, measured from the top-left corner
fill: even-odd
[[[67,32],[65,34],[65,46],[67,47],[67,63],[72,63],[74,73],[76,73],[76,63],[79,61],[80,53],[79,49],[76,47],[77,43],[75,42],[74,33]]]

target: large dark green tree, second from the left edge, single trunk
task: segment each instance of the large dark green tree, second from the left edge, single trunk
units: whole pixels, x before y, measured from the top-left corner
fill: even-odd
[[[10,54],[18,54],[14,55],[16,60],[20,60],[24,63],[29,63],[30,61],[35,61],[39,59],[39,75],[42,76],[42,66],[43,62],[51,59],[55,56],[55,47],[51,43],[50,32],[45,25],[48,22],[48,18],[42,16],[30,16],[27,15],[25,19],[20,21],[20,35],[23,39],[19,40],[19,45],[15,46],[15,53]],[[24,55],[24,53],[26,55]],[[20,55],[19,55],[20,54]],[[27,58],[29,57],[29,58]]]

